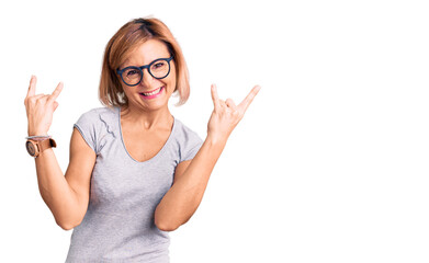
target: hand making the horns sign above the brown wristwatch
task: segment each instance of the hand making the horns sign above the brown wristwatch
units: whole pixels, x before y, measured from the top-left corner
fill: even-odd
[[[29,92],[24,100],[26,117],[29,119],[29,136],[47,135],[53,115],[58,106],[55,100],[63,90],[63,82],[59,82],[52,94],[35,94],[37,78],[32,76],[30,80]]]

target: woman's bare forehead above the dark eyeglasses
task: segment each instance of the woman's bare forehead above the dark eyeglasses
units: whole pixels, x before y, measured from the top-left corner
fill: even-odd
[[[169,58],[167,45],[158,39],[149,39],[136,46],[125,59],[124,65],[147,65],[158,58]]]

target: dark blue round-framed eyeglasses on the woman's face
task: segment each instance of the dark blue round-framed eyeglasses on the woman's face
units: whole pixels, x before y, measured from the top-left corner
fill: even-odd
[[[146,68],[151,77],[155,79],[163,79],[170,73],[170,58],[158,58],[151,61],[149,65],[142,67],[131,66],[124,69],[116,69],[116,72],[121,76],[122,81],[127,85],[137,85],[143,79],[143,70]]]

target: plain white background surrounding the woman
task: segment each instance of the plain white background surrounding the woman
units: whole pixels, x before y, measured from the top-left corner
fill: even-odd
[[[49,134],[66,171],[74,123],[101,106],[108,41],[146,15],[182,46],[192,92],[171,111],[201,137],[211,83],[236,102],[262,87],[171,232],[171,262],[429,262],[428,13],[380,0],[1,3],[0,262],[64,262],[70,242],[24,149],[31,75],[37,93],[65,83]]]

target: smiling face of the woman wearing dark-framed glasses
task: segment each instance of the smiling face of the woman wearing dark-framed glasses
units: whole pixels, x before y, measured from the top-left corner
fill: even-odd
[[[149,39],[133,50],[121,66],[120,69],[127,67],[142,67],[150,65],[159,58],[170,58],[171,55],[168,52],[166,44],[157,39]],[[170,70],[167,77],[157,79],[156,70],[160,67],[168,67]],[[166,60],[158,60],[150,67],[151,73],[157,77],[155,78],[148,71],[148,68],[143,69],[142,81],[136,85],[127,85],[124,80],[126,78],[134,78],[133,76],[139,75],[138,70],[127,70],[122,73],[121,84],[128,99],[128,104],[132,107],[138,107],[144,111],[156,111],[161,107],[168,106],[168,101],[176,89],[176,67],[174,60],[169,62]],[[139,79],[139,78],[138,78]]]

